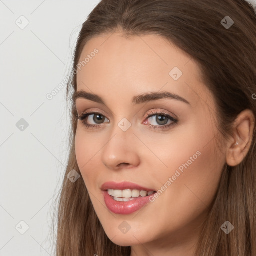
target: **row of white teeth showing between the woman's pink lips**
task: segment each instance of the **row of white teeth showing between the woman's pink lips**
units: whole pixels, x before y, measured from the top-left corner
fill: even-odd
[[[117,201],[129,201],[133,197],[145,197],[147,195],[151,195],[154,192],[153,191],[144,191],[144,190],[137,190],[137,189],[124,189],[124,190],[119,190],[119,189],[107,189],[107,192],[109,195],[113,196],[115,200]],[[122,198],[121,198],[122,197]],[[121,200],[119,200],[121,199]],[[127,200],[128,199],[128,200]]]

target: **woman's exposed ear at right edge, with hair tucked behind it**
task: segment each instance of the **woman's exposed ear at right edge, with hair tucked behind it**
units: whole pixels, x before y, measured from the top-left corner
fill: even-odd
[[[238,165],[249,151],[255,118],[251,110],[242,111],[234,121],[234,135],[228,140],[226,148],[226,163],[229,166]]]

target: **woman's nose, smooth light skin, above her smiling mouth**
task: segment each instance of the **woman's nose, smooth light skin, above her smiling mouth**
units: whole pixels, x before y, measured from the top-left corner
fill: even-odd
[[[132,129],[122,131],[118,126],[111,133],[101,157],[103,164],[111,170],[137,167],[140,163],[139,148],[136,146],[137,137]]]

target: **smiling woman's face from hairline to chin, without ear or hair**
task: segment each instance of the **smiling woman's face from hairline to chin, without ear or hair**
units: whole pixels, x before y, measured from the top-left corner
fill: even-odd
[[[85,45],[78,67],[77,91],[97,96],[76,97],[78,115],[90,113],[78,120],[76,159],[107,236],[121,246],[191,247],[226,160],[198,66],[162,37],[109,33]],[[102,188],[109,181],[157,193],[144,196],[129,184]],[[115,197],[139,197],[116,201],[107,188]]]

